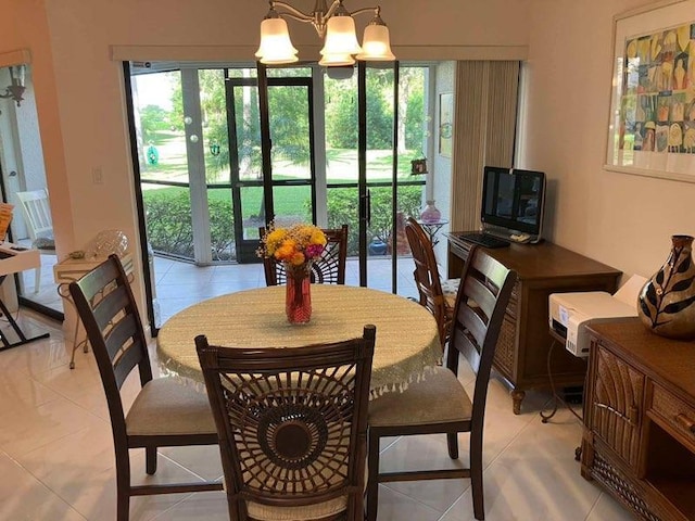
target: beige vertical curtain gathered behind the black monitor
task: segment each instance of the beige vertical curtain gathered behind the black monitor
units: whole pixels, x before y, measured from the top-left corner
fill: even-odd
[[[456,64],[452,230],[480,227],[483,167],[514,166],[519,66],[504,61]]]

